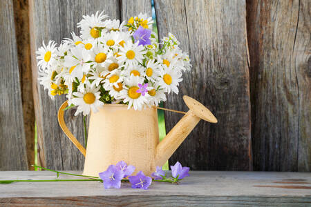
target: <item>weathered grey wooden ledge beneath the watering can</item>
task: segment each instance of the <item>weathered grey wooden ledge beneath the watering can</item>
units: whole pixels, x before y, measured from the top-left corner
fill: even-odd
[[[81,172],[76,172],[81,173]],[[14,206],[308,206],[307,172],[190,171],[180,185],[105,190],[97,181],[0,184],[0,205]],[[54,172],[0,172],[3,179],[55,179]],[[61,179],[73,179],[61,175]]]

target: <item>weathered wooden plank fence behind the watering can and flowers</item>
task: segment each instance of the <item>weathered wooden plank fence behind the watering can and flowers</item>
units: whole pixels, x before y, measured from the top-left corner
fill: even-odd
[[[192,170],[311,170],[311,44],[308,0],[155,0],[159,37],[173,32],[189,52],[179,95],[167,108],[200,100],[218,124],[201,121],[169,160]],[[105,10],[122,21],[151,15],[150,0],[0,1],[0,170],[34,163],[35,121],[41,166],[81,170],[84,158],[57,124],[57,109],[37,83],[35,50],[58,43],[82,14]],[[82,117],[66,112],[83,137]],[[180,116],[165,113],[167,131]]]

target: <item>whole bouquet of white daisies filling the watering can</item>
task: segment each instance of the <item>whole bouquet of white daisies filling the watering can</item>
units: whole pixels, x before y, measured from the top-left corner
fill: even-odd
[[[158,43],[147,14],[127,23],[107,19],[103,12],[83,16],[57,47],[55,41],[37,50],[39,83],[50,97],[67,94],[68,105],[88,115],[105,103],[127,104],[142,110],[166,101],[166,93],[178,94],[182,72],[190,70],[189,55],[169,33]]]

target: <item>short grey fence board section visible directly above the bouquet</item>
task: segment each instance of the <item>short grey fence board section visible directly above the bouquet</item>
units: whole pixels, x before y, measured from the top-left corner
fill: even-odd
[[[151,17],[151,0],[121,0],[122,21],[128,21],[131,17],[137,17],[140,12],[147,13]]]

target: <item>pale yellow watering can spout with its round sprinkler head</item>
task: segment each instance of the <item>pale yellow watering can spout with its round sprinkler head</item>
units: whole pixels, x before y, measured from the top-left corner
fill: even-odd
[[[217,123],[216,117],[202,103],[188,96],[184,96],[183,99],[189,111],[178,121],[176,126],[171,129],[160,144],[158,144],[156,148],[156,166],[164,165],[201,119],[211,123]]]

